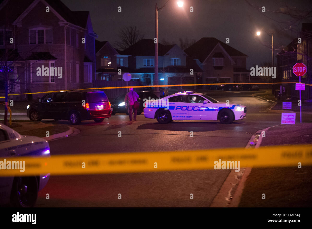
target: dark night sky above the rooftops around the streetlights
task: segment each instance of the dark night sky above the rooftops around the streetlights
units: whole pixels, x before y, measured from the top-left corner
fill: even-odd
[[[144,34],[144,38],[155,36],[155,3],[162,7],[166,0],[62,0],[72,11],[90,11],[93,30],[99,35],[99,41],[113,44],[118,39],[118,31],[124,26],[135,25]],[[274,32],[274,48],[286,46],[296,34],[282,32],[285,23],[275,22],[264,16],[266,14],[277,21],[286,21],[287,17],[266,11],[260,13],[244,0],[184,0],[183,8],[177,6],[177,0],[171,0],[159,14],[158,38],[178,43],[179,38],[195,39],[215,37],[225,43],[230,38],[230,46],[248,55],[247,69],[261,62],[271,62],[271,49],[261,43],[270,45],[271,37],[265,32],[256,36],[257,30]],[[272,1],[249,0],[266,10],[279,10],[285,3],[299,9],[312,9],[312,1]],[[300,2],[300,3],[299,3]],[[122,12],[118,12],[118,7]],[[190,7],[194,12],[190,12]],[[305,20],[302,22],[312,22]],[[297,28],[299,31],[301,24]],[[274,51],[276,55],[278,50]],[[276,59],[275,59],[276,64]]]

